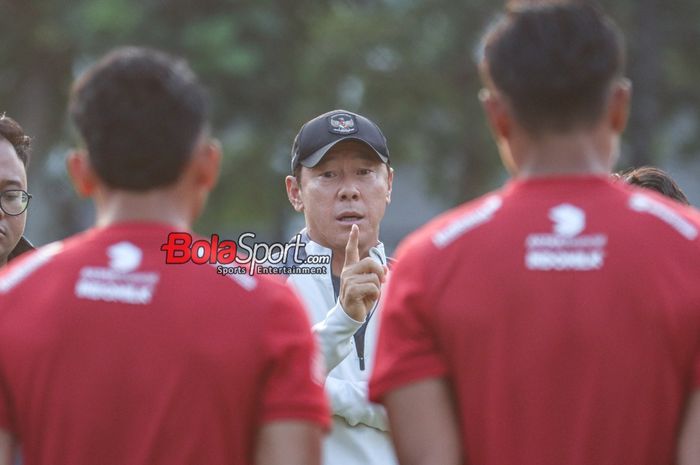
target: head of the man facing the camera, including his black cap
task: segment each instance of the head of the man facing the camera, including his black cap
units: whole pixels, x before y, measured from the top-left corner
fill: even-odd
[[[304,213],[309,237],[344,254],[353,224],[359,250],[379,241],[391,200],[393,170],[386,138],[364,116],[334,110],[302,126],[292,147],[286,187],[294,209]]]

